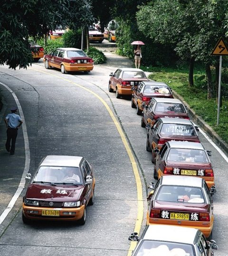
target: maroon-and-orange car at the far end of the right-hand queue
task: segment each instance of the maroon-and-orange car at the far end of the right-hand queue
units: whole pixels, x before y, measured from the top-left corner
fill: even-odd
[[[142,81],[149,81],[141,69],[118,68],[109,76],[108,91],[115,91],[117,99],[120,99],[122,95],[132,95],[132,86],[138,86]]]

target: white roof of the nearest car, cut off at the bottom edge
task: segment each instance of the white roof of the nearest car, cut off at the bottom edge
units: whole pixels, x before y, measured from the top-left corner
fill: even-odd
[[[198,229],[174,225],[149,225],[142,239],[193,244]]]

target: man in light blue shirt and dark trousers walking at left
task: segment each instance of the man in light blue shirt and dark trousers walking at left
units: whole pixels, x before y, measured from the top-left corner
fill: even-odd
[[[5,118],[5,123],[7,127],[7,141],[6,141],[6,150],[7,152],[10,152],[10,154],[14,154],[15,152],[15,143],[16,138],[18,135],[18,128],[23,123],[20,116],[17,113],[18,108],[12,107],[10,108],[11,113],[8,114]],[[10,141],[11,141],[11,147],[10,147]]]

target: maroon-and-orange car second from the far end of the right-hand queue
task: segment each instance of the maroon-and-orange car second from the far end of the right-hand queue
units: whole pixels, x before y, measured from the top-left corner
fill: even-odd
[[[144,81],[140,82],[132,92],[132,108],[137,109],[137,114],[143,111],[142,103],[147,105],[154,97],[173,98],[170,87],[164,82]]]

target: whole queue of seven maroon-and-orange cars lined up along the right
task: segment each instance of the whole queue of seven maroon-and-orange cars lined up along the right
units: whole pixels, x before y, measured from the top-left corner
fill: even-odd
[[[146,150],[152,152],[146,228],[133,256],[208,256],[218,246],[212,240],[216,192],[211,151],[199,141],[199,128],[187,107],[174,99],[163,82],[149,81],[140,69],[118,68],[110,74],[109,92],[131,96],[131,106],[147,129]]]

